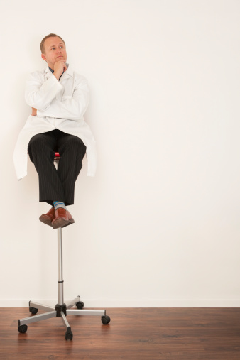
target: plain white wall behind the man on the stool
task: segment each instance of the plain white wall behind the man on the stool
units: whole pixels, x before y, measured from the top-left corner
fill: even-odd
[[[239,11],[237,0],[2,2],[1,306],[58,300],[57,232],[38,220],[48,205],[33,164],[18,182],[12,161],[50,32],[89,80],[99,153],[63,231],[65,299],[240,305]]]

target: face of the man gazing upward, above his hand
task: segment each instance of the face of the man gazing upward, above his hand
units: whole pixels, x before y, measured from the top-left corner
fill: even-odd
[[[44,42],[44,54],[42,54],[43,60],[48,62],[48,66],[54,69],[55,62],[67,61],[67,52],[62,39],[58,36],[53,38],[47,38]]]

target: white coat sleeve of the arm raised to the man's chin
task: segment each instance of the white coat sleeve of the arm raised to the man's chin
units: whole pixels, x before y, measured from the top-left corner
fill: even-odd
[[[48,80],[42,82],[40,74],[38,72],[33,72],[28,77],[26,83],[26,103],[30,107],[44,111],[50,107],[50,103],[61,90],[62,85],[55,76],[51,76]]]

